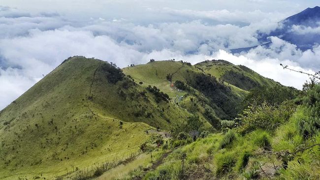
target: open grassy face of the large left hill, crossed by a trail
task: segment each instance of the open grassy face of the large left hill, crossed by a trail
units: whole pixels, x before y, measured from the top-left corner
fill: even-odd
[[[51,179],[70,172],[71,166],[82,169],[122,157],[149,138],[145,131],[153,127],[141,122],[166,129],[166,118],[179,123],[188,116],[165,102],[157,104],[150,93],[147,101],[119,97],[123,81],[108,83],[103,63],[67,60],[1,111],[0,179],[30,179],[41,173]],[[124,91],[136,95],[142,90],[135,85]],[[155,118],[132,116],[137,104]],[[120,128],[119,120],[128,123]]]

